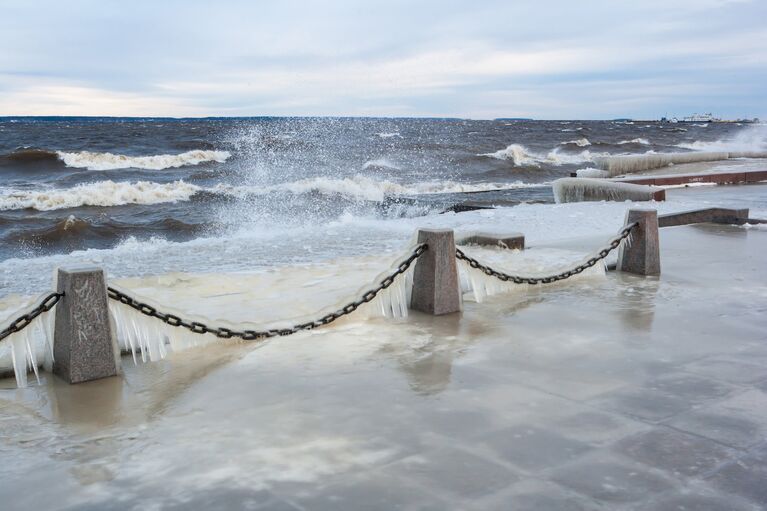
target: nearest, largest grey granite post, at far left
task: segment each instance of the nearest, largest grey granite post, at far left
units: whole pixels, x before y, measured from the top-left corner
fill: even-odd
[[[53,372],[69,383],[120,373],[120,351],[109,321],[106,280],[100,268],[60,268]]]

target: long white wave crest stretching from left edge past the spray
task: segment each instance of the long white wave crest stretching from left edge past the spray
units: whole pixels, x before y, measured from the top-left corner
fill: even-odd
[[[387,195],[424,195],[439,193],[469,193],[489,190],[524,188],[525,183],[460,183],[456,181],[429,181],[410,184],[376,180],[362,175],[344,179],[316,177],[267,186],[218,184],[204,188],[182,180],[172,183],[149,181],[99,181],[72,188],[42,191],[0,189],[0,211],[35,209],[51,211],[84,206],[152,205],[191,200],[196,194],[247,198],[270,193],[296,195],[319,193],[345,195],[356,200],[381,202]]]

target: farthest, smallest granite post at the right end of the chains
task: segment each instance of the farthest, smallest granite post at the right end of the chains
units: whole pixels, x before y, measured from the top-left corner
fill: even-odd
[[[658,212],[654,209],[630,209],[626,224],[639,222],[631,233],[631,246],[623,243],[618,251],[618,271],[637,275],[660,275]]]

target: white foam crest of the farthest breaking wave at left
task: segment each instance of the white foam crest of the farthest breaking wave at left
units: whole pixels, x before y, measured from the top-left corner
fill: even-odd
[[[147,169],[163,170],[199,165],[206,162],[225,162],[231,154],[227,151],[187,151],[181,154],[157,154],[153,156],[125,156],[122,154],[81,151],[69,153],[57,151],[59,159],[67,167],[88,170]]]

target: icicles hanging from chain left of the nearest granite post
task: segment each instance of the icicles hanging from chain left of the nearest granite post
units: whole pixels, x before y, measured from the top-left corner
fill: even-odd
[[[47,296],[47,293],[12,314],[11,318],[15,319],[31,310],[45,296]],[[27,374],[29,372],[34,373],[39,383],[39,368],[42,366],[47,371],[53,368],[54,310],[40,314],[24,330],[9,335],[0,343],[0,359],[5,358],[5,353],[10,351],[13,373],[16,377],[16,386],[19,388],[27,386]]]

